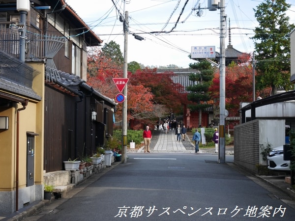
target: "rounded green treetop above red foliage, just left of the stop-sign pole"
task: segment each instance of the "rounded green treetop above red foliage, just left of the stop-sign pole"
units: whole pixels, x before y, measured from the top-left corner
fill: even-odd
[[[110,43],[106,43],[101,49],[101,52],[101,55],[103,57],[110,58],[112,62],[114,62],[118,66],[123,65],[124,58],[120,50],[120,46],[115,41],[110,41]]]

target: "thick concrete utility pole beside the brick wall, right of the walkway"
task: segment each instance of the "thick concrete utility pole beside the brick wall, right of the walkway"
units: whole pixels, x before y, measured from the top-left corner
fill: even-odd
[[[220,0],[220,98],[219,98],[219,151],[218,162],[225,163],[225,0]]]

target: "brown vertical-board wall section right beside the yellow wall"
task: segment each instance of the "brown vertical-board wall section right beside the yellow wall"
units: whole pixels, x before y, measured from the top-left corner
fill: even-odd
[[[62,170],[63,161],[77,158],[75,153],[76,97],[45,86],[44,169]]]

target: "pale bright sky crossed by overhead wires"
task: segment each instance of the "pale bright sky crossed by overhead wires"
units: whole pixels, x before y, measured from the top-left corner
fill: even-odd
[[[254,28],[259,26],[254,10],[264,0],[225,0],[227,28],[226,46],[253,53]],[[207,0],[65,0],[104,43],[115,41],[124,53],[123,25],[120,15],[128,12],[129,34],[127,62],[136,61],[145,66],[170,64],[188,68],[191,47],[215,46],[220,51],[220,10],[208,10]],[[287,15],[295,24],[295,2]],[[115,7],[116,5],[116,7]],[[201,10],[198,10],[200,5]],[[203,8],[203,9],[202,9]],[[197,13],[199,11],[199,13]],[[177,22],[178,20],[178,22]],[[229,23],[230,21],[230,23]],[[159,33],[159,32],[165,33]],[[158,33],[151,33],[158,32]],[[135,39],[133,33],[144,40]]]

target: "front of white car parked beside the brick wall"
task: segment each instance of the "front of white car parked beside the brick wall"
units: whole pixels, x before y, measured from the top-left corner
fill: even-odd
[[[268,169],[289,170],[290,161],[284,161],[284,146],[273,148],[267,156]]]

